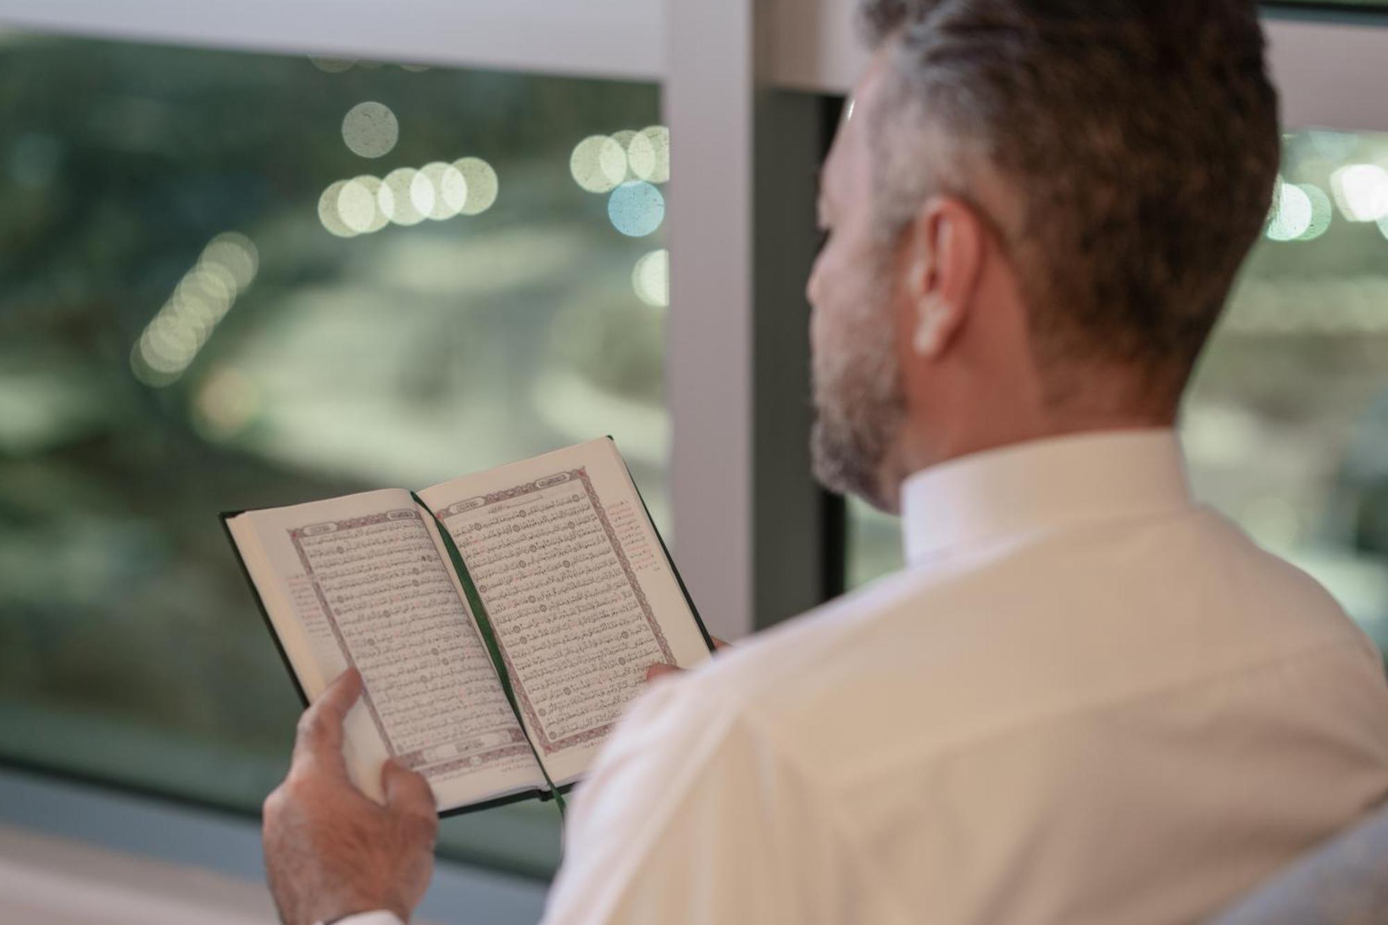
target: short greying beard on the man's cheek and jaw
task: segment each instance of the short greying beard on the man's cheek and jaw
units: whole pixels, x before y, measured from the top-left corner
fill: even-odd
[[[815,478],[830,492],[858,494],[881,507],[883,461],[901,429],[906,399],[897,362],[887,272],[873,274],[872,292],[841,329],[844,343],[815,357]],[[831,351],[831,353],[829,353]]]

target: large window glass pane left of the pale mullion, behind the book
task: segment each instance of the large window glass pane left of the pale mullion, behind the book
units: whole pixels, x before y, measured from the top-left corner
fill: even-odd
[[[611,433],[668,531],[657,121],[652,85],[6,33],[0,756],[258,808],[298,707],[218,511]],[[443,844],[543,875],[554,810]]]

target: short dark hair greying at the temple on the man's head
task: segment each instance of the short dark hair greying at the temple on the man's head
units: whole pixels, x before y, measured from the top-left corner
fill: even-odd
[[[870,125],[898,233],[931,193],[992,214],[1031,342],[1065,371],[1126,364],[1174,403],[1258,238],[1280,158],[1252,0],[865,0],[888,74]],[[980,169],[981,165],[981,169]],[[1001,211],[1001,210],[999,210]]]

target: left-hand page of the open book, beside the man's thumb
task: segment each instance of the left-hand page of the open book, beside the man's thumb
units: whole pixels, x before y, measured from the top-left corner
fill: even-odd
[[[258,551],[247,568],[310,699],[361,671],[347,739],[364,792],[380,799],[387,756],[423,774],[440,808],[543,786],[437,526],[408,492],[253,511],[232,528],[243,556]]]

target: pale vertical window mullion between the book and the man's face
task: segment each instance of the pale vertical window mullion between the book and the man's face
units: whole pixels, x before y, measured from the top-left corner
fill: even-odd
[[[675,0],[666,394],[676,561],[715,635],[752,628],[754,0]]]

